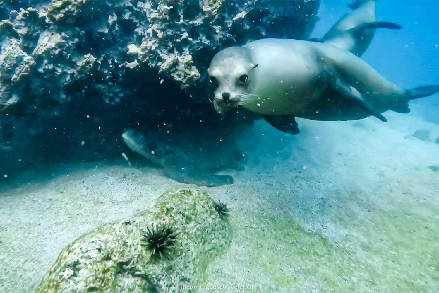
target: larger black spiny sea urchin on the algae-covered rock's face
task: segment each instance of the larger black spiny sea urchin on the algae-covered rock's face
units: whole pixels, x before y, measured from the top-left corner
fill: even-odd
[[[155,225],[151,228],[151,230],[147,227],[148,231],[144,234],[144,241],[147,242],[146,246],[148,250],[152,251],[153,255],[160,255],[165,253],[167,249],[174,246],[174,243],[177,240],[177,234],[173,231],[172,228],[166,226],[166,224],[162,226]]]

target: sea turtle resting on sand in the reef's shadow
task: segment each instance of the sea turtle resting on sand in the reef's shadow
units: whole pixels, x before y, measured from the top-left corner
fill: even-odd
[[[143,133],[128,129],[122,134],[123,141],[151,163],[160,167],[163,174],[175,181],[198,186],[232,184],[230,175],[214,172],[223,168],[242,169],[243,155],[232,141],[205,136],[183,134],[180,137],[155,132]]]

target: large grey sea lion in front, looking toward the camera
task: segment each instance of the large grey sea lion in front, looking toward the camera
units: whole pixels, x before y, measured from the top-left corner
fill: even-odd
[[[266,116],[356,120],[382,112],[408,113],[410,99],[439,86],[403,90],[355,54],[326,43],[261,39],[219,51],[208,69],[214,108],[242,106]]]

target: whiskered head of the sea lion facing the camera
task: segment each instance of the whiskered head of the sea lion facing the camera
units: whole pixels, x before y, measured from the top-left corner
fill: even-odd
[[[229,47],[213,57],[207,72],[215,88],[213,105],[216,112],[224,113],[243,105],[250,96],[246,90],[252,87],[257,66],[244,47]]]

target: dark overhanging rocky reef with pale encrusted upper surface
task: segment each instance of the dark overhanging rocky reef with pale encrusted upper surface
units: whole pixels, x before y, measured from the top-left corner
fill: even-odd
[[[215,114],[205,83],[212,56],[263,37],[305,39],[319,5],[320,0],[2,1],[0,170],[119,156],[126,127],[228,127],[233,134],[253,117]]]

